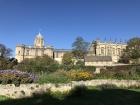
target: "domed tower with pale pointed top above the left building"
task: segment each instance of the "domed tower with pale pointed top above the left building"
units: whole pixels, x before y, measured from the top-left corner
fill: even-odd
[[[39,33],[34,41],[34,47],[35,48],[43,48],[44,47],[44,38],[41,35],[41,33]]]

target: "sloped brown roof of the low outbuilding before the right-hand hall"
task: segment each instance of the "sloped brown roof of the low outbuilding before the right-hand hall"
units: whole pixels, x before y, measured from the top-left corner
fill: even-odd
[[[111,56],[85,56],[85,62],[105,62],[112,61]]]

